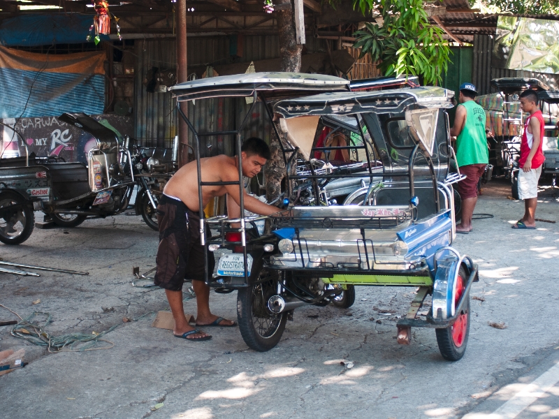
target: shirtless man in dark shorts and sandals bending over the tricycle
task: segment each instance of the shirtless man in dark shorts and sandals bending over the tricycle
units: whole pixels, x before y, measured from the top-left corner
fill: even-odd
[[[249,138],[242,143],[242,174],[254,177],[262,166],[270,159],[270,149],[260,138]],[[201,159],[203,182],[238,181],[238,159],[224,155]],[[208,205],[216,196],[228,195],[229,216],[240,215],[240,196],[238,185],[203,186],[202,207]],[[277,207],[261,203],[245,193],[245,208],[255,214],[270,215],[278,212]],[[157,222],[159,223],[159,247],[157,249],[157,273],[155,284],[165,288],[170,310],[175,319],[173,334],[175,337],[191,341],[202,341],[211,338],[189,325],[182,307],[182,284],[184,279],[192,279],[192,287],[196,293],[198,314],[196,326],[232,327],[236,323],[215,316],[210,311],[210,287],[204,278],[204,247],[200,244],[200,216],[198,210],[198,171],[196,161],[182,166],[165,185],[163,196],[157,206]],[[213,271],[215,260],[209,253]]]

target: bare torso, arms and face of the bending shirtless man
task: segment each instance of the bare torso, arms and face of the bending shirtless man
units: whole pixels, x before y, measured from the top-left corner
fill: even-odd
[[[202,182],[233,182],[239,179],[237,158],[219,155],[206,157],[200,160]],[[247,156],[242,152],[242,173],[248,177],[254,177],[261,167],[266,163],[266,159],[256,154]],[[192,211],[200,208],[198,200],[198,170],[196,161],[182,166],[173,177],[167,182],[164,193],[167,196],[179,198]],[[237,205],[239,204],[239,186],[203,186],[202,187],[202,207],[208,205],[212,198],[228,194]],[[278,212],[277,207],[261,203],[259,200],[245,194],[245,208],[255,214],[270,215]],[[231,215],[231,214],[230,214]]]

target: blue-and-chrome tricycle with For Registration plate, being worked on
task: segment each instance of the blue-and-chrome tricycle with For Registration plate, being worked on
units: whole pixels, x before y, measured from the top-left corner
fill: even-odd
[[[178,108],[197,150],[200,200],[203,186],[224,184],[202,181],[201,138],[232,138],[242,179],[241,133],[257,103],[274,121],[273,135],[284,156],[285,210],[269,217],[218,215],[201,222],[201,244],[208,249],[206,283],[238,290],[240,332],[256,351],[278,344],[297,307],[350,307],[355,286],[414,287],[414,300],[397,324],[398,343],[409,344],[412,327],[433,328],[442,356],[459,360],[470,331],[470,288],[477,281],[477,265],[451,247],[456,235],[451,184],[462,178],[449,172],[445,110],[452,106],[453,92],[439,87],[352,92],[347,84],[326,75],[252,73],[170,88],[178,101],[253,98],[247,117],[228,131],[196,129]],[[361,142],[334,149],[360,152],[365,172],[317,173],[310,164],[310,173],[298,173],[300,156],[310,162],[314,152],[327,151],[317,147],[317,132],[332,118],[354,121]],[[373,155],[379,156],[381,170]],[[364,175],[369,184],[354,205],[326,205],[326,197],[321,198],[321,179]],[[293,206],[300,179],[313,183],[314,199]],[[240,214],[245,214],[242,181],[227,184],[238,184]],[[202,208],[200,217],[204,220]],[[256,222],[262,219],[266,228],[260,233]],[[208,270],[209,252],[219,256],[214,272]],[[423,304],[429,307],[426,316],[419,314]]]

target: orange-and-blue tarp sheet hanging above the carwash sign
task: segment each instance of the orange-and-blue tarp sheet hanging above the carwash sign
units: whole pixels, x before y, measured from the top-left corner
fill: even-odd
[[[0,118],[103,113],[104,52],[36,54],[0,46]]]

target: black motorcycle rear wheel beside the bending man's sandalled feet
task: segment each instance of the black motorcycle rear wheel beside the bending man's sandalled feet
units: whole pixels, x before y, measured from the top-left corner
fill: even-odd
[[[253,267],[254,269],[254,267]],[[275,281],[267,270],[258,279],[270,277],[256,285],[240,288],[237,293],[237,320],[242,339],[254,351],[266,352],[282,339],[286,313],[275,314],[268,309],[268,299],[275,295]]]

